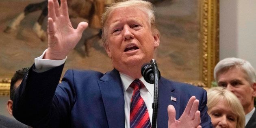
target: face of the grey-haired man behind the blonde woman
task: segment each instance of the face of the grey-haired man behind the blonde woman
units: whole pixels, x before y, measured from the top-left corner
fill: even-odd
[[[247,74],[241,68],[233,67],[227,72],[217,74],[217,82],[218,86],[226,87],[236,95],[245,109],[245,114],[247,108],[254,106],[256,84],[249,82]]]

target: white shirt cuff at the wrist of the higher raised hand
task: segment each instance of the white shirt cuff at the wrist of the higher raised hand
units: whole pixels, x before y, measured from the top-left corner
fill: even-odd
[[[37,58],[35,58],[35,72],[45,72],[53,67],[57,67],[65,63],[67,56],[63,60],[50,60],[50,59],[43,59],[44,54],[48,49],[46,49],[43,54]]]

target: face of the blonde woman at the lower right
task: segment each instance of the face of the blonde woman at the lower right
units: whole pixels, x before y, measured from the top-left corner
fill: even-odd
[[[214,128],[236,128],[238,116],[225,101],[219,101],[208,110]]]

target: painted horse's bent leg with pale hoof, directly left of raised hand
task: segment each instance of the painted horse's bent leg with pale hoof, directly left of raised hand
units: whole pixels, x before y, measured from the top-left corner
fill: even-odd
[[[47,37],[47,33],[45,32],[45,30],[42,29],[42,25],[43,25],[43,20],[48,15],[47,3],[42,8],[43,8],[42,13],[41,13],[39,19],[37,20],[37,22],[34,24],[33,30],[37,34],[39,39],[41,39],[41,41],[45,41],[46,37]]]

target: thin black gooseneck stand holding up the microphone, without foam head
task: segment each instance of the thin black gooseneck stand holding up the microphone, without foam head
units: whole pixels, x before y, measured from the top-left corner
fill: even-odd
[[[152,104],[153,115],[152,115],[152,128],[156,128],[157,109],[158,109],[158,78],[160,74],[158,72],[157,63],[155,59],[150,61],[153,72],[154,72],[154,102]]]

